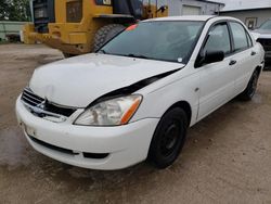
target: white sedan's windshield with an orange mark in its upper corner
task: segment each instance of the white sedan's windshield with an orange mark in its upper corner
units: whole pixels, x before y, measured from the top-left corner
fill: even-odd
[[[185,64],[204,22],[143,22],[128,27],[99,52]]]

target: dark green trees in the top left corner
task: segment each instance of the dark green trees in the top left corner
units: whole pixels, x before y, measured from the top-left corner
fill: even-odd
[[[0,21],[30,21],[29,0],[0,0]]]

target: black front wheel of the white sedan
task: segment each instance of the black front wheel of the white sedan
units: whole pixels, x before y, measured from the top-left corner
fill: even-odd
[[[158,168],[170,166],[185,141],[188,116],[180,107],[169,110],[160,119],[149,151],[149,161]]]

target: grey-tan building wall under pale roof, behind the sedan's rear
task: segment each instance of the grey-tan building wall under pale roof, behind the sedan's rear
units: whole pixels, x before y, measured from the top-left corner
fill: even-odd
[[[271,18],[271,9],[223,12],[220,15],[236,17],[244,24],[247,23],[246,20],[248,21],[248,18],[256,18],[256,27],[259,27],[267,20]]]

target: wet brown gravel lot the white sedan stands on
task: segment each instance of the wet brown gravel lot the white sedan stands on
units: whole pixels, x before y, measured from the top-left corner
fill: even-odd
[[[62,58],[41,44],[0,46],[0,203],[271,204],[271,72],[251,102],[233,100],[190,129],[173,166],[95,171],[37,153],[16,125],[35,67]]]

